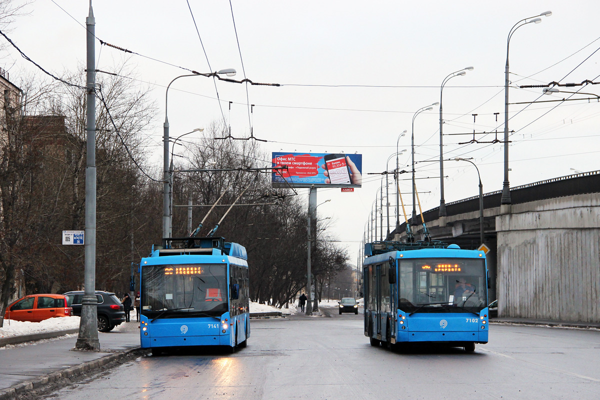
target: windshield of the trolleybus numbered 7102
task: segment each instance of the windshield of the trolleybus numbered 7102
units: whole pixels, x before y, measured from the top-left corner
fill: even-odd
[[[478,312],[487,304],[485,260],[400,260],[398,308],[406,312]]]

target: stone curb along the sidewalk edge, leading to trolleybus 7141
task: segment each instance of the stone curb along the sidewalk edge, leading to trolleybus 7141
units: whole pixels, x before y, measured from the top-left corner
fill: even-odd
[[[29,381],[17,383],[16,385],[8,387],[7,389],[1,389],[0,400],[13,400],[17,396],[22,395],[25,392],[38,389],[46,384],[50,384],[61,379],[76,377],[77,375],[81,375],[84,372],[92,371],[94,369],[100,368],[101,366],[107,365],[108,363],[111,363],[113,361],[123,359],[127,357],[130,353],[133,353],[134,351],[138,350],[140,350],[139,347],[130,348],[129,350],[121,351],[120,353],[113,353],[109,356],[104,356],[100,359],[72,366],[71,368],[67,368],[62,371],[52,372],[52,374],[43,375],[41,377],[37,377]]]

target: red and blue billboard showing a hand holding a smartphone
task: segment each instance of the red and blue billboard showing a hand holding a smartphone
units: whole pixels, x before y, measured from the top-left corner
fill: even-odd
[[[283,153],[272,154],[271,182],[276,188],[359,188],[362,183],[362,154]]]

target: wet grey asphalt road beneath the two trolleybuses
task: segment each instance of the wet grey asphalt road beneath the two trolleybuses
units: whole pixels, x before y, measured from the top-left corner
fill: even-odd
[[[597,399],[600,332],[492,325],[490,342],[395,353],[371,347],[362,314],[253,320],[235,354],[140,357],[55,392],[106,399]],[[51,396],[51,397],[50,397]]]

